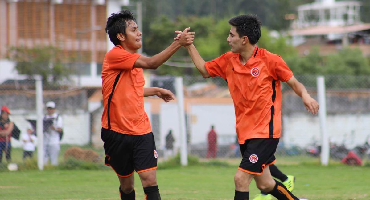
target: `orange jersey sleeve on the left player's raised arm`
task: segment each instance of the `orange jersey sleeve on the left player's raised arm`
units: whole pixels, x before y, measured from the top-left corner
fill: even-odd
[[[140,54],[132,54],[124,49],[112,49],[106,55],[108,68],[131,70],[134,68],[134,63],[140,56]]]

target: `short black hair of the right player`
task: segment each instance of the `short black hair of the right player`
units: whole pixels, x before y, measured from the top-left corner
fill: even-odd
[[[240,38],[248,37],[250,44],[256,44],[261,37],[261,22],[257,15],[239,15],[231,18],[229,24],[236,27]]]

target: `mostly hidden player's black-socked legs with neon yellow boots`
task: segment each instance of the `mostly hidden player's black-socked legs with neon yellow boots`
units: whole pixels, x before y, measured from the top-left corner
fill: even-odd
[[[285,187],[292,192],[294,189],[294,182],[296,178],[294,176],[285,175],[282,171],[275,166],[275,164],[269,165],[271,176],[281,180]],[[261,191],[257,194],[253,200],[272,200],[271,194]]]

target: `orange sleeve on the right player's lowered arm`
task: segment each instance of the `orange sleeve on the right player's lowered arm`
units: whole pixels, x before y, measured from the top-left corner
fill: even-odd
[[[279,55],[275,55],[275,58],[270,61],[270,67],[275,80],[287,82],[293,76],[292,70]]]

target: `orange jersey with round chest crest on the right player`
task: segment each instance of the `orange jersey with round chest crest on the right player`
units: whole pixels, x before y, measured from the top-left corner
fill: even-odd
[[[279,55],[256,47],[245,65],[239,54],[227,52],[206,62],[205,67],[209,75],[228,82],[239,144],[246,139],[280,137],[280,81],[288,81],[293,72]]]

